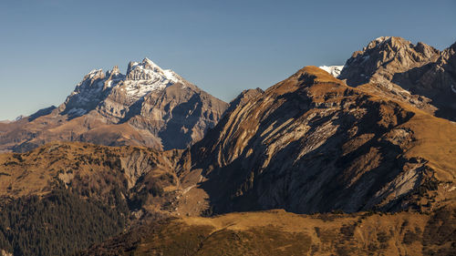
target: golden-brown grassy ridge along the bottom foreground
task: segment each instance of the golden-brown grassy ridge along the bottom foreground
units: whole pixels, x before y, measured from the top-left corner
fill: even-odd
[[[109,248],[119,255],[449,255],[453,217],[453,210],[433,215],[230,213],[150,224],[84,255],[109,255]],[[132,242],[133,234],[142,238]]]

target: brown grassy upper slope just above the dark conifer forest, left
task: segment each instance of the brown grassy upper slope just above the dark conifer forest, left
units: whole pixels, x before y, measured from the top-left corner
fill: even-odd
[[[179,150],[159,152],[78,142],[54,142],[22,154],[5,153],[0,155],[0,197],[44,196],[63,185],[83,198],[106,203],[119,192],[127,202],[143,189],[176,189],[174,169],[180,155]]]

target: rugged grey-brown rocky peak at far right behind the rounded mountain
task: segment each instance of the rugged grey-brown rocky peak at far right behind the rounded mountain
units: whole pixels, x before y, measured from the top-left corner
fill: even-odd
[[[352,87],[370,83],[378,95],[455,120],[454,47],[440,52],[400,37],[378,37],[347,60],[339,78],[346,79]]]

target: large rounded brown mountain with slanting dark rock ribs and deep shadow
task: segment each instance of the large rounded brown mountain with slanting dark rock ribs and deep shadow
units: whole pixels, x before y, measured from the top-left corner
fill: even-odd
[[[184,153],[179,209],[432,210],[456,195],[455,134],[455,123],[373,86],[305,67],[227,112]]]

